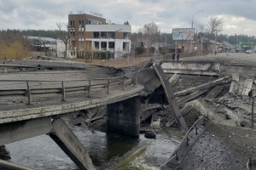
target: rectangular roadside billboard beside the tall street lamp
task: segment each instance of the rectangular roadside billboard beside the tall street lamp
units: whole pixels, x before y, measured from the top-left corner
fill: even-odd
[[[173,40],[194,40],[195,28],[175,28],[172,29]]]

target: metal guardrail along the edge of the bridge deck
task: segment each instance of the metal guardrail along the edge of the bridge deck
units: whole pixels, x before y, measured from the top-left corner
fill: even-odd
[[[70,92],[85,91],[88,93],[88,97],[90,97],[90,93],[92,90],[107,89],[107,94],[109,94],[111,87],[121,85],[121,88],[125,90],[125,87],[127,87],[127,85],[131,85],[131,84],[137,85],[137,76],[140,71],[142,70],[131,72],[129,74],[119,76],[119,77],[95,78],[95,79],[0,80],[0,82],[19,82],[19,83],[22,82],[23,83],[22,84],[23,87],[21,88],[0,89],[0,96],[25,95],[27,98],[27,105],[32,105],[32,94],[34,95],[61,94],[62,101],[66,100],[67,92],[70,93]],[[42,84],[43,82],[45,84]],[[51,82],[51,84],[49,84],[49,82]],[[79,85],[70,85],[73,82],[79,82]],[[32,83],[34,83],[33,86],[32,86]],[[56,86],[59,86],[59,87],[56,88]]]

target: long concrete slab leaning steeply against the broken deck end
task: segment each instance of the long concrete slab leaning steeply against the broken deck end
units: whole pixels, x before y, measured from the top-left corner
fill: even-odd
[[[158,78],[160,79],[162,87],[165,90],[168,104],[172,105],[172,110],[177,118],[177,122],[180,124],[183,131],[187,131],[188,126],[187,126],[186,122],[184,121],[183,116],[181,115],[181,111],[177,105],[177,99],[175,99],[175,96],[172,92],[172,86],[171,86],[170,82],[168,82],[166,74],[161,69],[160,65],[153,65],[153,68],[154,68],[154,71],[156,72]]]

